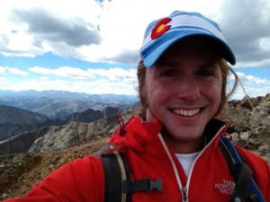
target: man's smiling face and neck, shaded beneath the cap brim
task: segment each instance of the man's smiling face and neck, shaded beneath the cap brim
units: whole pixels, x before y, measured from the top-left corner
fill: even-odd
[[[150,115],[162,122],[166,143],[176,153],[196,152],[204,145],[203,129],[220,105],[218,61],[216,48],[189,39],[169,48],[146,70],[141,93]]]

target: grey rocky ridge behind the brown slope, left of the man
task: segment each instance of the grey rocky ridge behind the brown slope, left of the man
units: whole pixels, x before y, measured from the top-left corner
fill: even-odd
[[[85,114],[82,117],[76,115],[77,119],[83,120],[82,122],[74,119],[74,121],[66,125],[40,127],[6,139],[0,142],[0,156],[58,151],[80,145],[85,141],[92,141],[100,136],[109,136],[113,132],[112,127],[116,124],[114,114],[118,110],[106,108],[103,113],[105,113],[104,111],[106,111],[105,118],[102,119],[103,116],[101,116],[98,121],[92,119],[94,117],[96,120],[95,113],[97,112],[94,111],[93,113],[90,110],[91,113],[88,116],[85,116]],[[122,112],[124,111],[122,110]]]

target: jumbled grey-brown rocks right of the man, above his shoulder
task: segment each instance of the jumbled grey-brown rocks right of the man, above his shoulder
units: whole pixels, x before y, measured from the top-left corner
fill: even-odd
[[[270,162],[270,94],[229,101],[220,117],[231,123],[229,132],[234,143]]]

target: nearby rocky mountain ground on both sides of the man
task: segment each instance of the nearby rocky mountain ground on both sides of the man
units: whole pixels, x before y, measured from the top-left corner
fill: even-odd
[[[135,105],[120,113],[126,122],[138,111],[138,105]],[[229,101],[219,118],[230,122],[229,132],[235,144],[270,162],[270,94]],[[25,151],[22,149],[21,154],[8,154],[8,146],[0,145],[0,199],[22,196],[32,184],[62,164],[94,153],[105,145],[115,127],[117,121],[109,115],[92,123],[71,121],[62,126],[39,128],[29,132],[27,138],[23,137],[27,134],[24,133],[16,140],[18,143],[21,141],[21,145],[27,145],[25,139],[36,137]],[[11,142],[8,145],[12,145]]]

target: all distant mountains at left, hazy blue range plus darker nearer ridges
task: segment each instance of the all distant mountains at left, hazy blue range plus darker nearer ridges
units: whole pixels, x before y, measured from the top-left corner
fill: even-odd
[[[91,123],[136,102],[130,95],[0,90],[0,141],[39,127]]]

